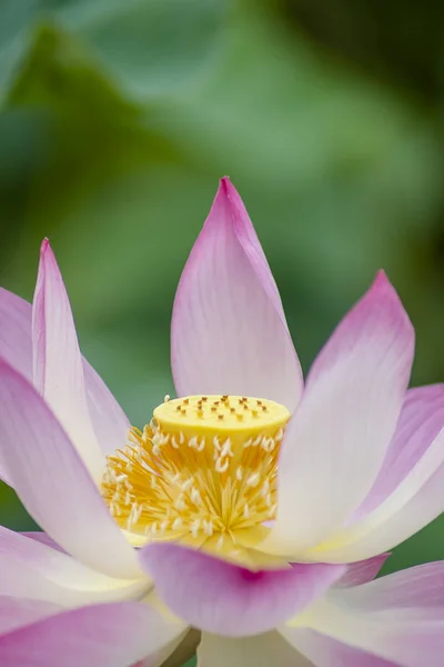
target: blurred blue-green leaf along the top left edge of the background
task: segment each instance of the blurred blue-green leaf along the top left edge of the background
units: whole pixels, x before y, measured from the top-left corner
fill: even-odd
[[[165,93],[204,70],[218,50],[225,0],[4,0],[0,90],[8,88],[41,22],[70,31],[133,98]]]

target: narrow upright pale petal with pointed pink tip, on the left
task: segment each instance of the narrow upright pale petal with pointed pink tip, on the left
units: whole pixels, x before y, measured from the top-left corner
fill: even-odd
[[[33,382],[94,479],[104,467],[88,410],[71,306],[49,241],[41,247],[32,307]]]

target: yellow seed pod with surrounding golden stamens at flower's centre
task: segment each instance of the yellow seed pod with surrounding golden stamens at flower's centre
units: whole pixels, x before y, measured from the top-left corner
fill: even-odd
[[[239,559],[274,518],[289,418],[266,399],[165,399],[108,457],[101,490],[111,514],[134,545],[172,540]]]

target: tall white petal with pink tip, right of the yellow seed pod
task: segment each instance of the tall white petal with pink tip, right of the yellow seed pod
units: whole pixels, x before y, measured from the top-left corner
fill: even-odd
[[[301,560],[364,500],[395,431],[413,349],[412,325],[380,272],[313,365],[282,445],[264,548]]]

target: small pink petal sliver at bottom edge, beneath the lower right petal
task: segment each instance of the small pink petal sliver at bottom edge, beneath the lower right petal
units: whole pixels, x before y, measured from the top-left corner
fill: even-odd
[[[314,630],[283,628],[282,635],[316,667],[400,667],[398,663],[384,660]]]

